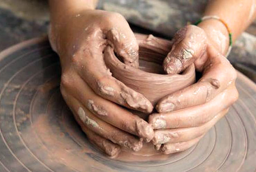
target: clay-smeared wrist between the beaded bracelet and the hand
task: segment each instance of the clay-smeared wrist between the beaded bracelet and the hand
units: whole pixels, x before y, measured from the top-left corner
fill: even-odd
[[[208,19],[198,24],[208,37],[208,43],[225,55],[229,47],[229,33],[226,26],[219,20]]]

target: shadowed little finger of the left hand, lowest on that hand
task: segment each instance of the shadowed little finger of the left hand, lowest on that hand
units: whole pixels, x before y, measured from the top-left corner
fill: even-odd
[[[89,141],[96,145],[101,151],[106,153],[110,158],[115,158],[120,153],[121,149],[118,144],[112,143],[111,141],[97,135],[93,131],[86,128],[84,125],[81,126],[83,132],[86,133]]]

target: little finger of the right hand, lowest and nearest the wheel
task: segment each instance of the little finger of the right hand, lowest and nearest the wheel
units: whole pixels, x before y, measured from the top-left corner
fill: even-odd
[[[185,150],[191,148],[193,145],[195,145],[203,136],[200,136],[200,137],[197,137],[195,139],[185,141],[185,142],[165,143],[161,147],[161,151],[164,154],[170,154],[170,153],[185,151]]]

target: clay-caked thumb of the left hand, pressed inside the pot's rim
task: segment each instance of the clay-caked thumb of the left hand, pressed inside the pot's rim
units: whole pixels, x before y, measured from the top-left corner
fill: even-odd
[[[106,36],[108,43],[125,64],[139,67],[139,45],[129,26],[125,29],[112,28]]]

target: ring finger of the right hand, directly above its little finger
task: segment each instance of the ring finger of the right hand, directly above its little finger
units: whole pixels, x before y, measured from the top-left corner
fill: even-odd
[[[199,127],[155,130],[155,136],[152,139],[152,142],[153,144],[163,144],[184,142],[195,139],[201,135],[204,135],[204,133],[206,133],[211,127],[213,127],[215,123],[227,112],[228,109],[221,111],[213,119]]]

